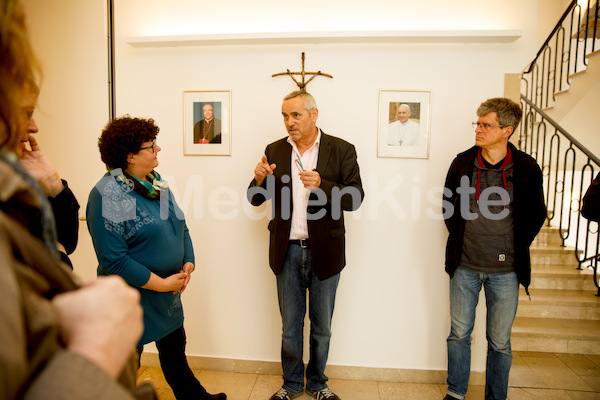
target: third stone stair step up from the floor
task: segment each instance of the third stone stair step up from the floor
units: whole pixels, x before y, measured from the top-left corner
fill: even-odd
[[[597,291],[593,271],[589,268],[579,270],[576,265],[532,265],[529,287]]]

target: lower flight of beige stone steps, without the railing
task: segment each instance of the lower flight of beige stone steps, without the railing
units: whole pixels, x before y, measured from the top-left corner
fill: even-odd
[[[521,288],[512,349],[600,355],[600,297],[593,273],[578,270],[575,250],[544,227],[531,247],[531,300]]]

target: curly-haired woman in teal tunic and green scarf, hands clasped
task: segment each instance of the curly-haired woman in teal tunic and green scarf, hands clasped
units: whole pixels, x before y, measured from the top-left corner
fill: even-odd
[[[183,212],[154,170],[158,131],[152,119],[125,116],[109,122],[98,140],[109,172],[90,192],[86,212],[98,275],[120,275],[139,290],[144,334],[138,352],[156,343],[178,400],[224,400],[224,393],[204,389],[185,356],[181,293],[194,271],[194,249]]]

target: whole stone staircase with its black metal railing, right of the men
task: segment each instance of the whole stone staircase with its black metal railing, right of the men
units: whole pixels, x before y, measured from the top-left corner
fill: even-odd
[[[521,288],[513,350],[600,355],[600,286],[588,268],[600,229],[580,214],[600,171],[599,102],[600,4],[573,0],[521,74],[519,148],[542,169],[549,222],[531,247],[531,299]]]

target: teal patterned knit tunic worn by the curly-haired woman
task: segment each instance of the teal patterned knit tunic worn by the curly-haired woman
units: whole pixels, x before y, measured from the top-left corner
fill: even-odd
[[[161,215],[161,205],[165,215]],[[183,212],[170,190],[163,189],[160,200],[147,199],[107,173],[90,192],[86,218],[98,275],[120,275],[140,291],[144,333],[138,346],[182,326],[179,293],[141,288],[150,272],[165,278],[179,272],[186,262],[194,262]]]

